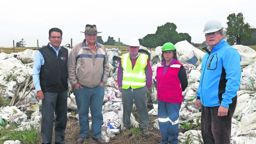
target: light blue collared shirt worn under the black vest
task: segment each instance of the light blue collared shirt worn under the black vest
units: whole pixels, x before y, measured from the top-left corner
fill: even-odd
[[[56,52],[56,56],[58,56],[59,50],[61,49],[61,47],[59,46],[59,49],[56,50],[50,43],[49,45]],[[40,51],[36,51],[35,58],[34,58],[33,72],[32,72],[33,83],[35,85],[36,91],[42,90],[40,86],[39,73],[40,73],[41,66],[44,64],[45,64],[45,60],[43,58],[42,53]]]

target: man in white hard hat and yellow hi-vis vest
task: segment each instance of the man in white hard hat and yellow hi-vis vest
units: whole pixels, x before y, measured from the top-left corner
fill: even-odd
[[[144,137],[149,137],[149,115],[147,111],[147,91],[152,83],[152,68],[148,55],[139,53],[140,42],[133,37],[128,42],[129,52],[122,55],[117,71],[119,91],[122,92],[124,132],[131,127],[130,116],[133,100],[140,118]]]

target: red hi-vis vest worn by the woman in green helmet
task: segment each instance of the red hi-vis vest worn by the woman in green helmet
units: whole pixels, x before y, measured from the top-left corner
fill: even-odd
[[[181,63],[176,61],[171,65],[163,76],[164,66],[158,65],[156,69],[157,98],[163,102],[181,103],[182,87],[178,73]]]

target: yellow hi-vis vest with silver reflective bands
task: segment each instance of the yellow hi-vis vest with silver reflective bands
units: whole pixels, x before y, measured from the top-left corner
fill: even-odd
[[[141,88],[146,85],[145,67],[147,66],[148,55],[140,53],[132,69],[129,53],[123,54],[121,64],[123,67],[122,88]]]

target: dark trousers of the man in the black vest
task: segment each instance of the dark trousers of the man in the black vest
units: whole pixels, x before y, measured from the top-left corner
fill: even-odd
[[[43,92],[42,100],[42,144],[52,144],[53,118],[55,113],[55,144],[65,143],[67,121],[67,91]]]

